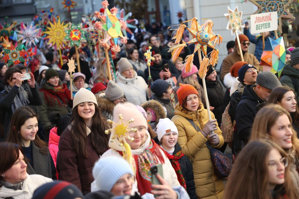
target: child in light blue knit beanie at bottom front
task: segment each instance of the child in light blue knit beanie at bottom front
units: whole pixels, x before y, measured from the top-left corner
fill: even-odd
[[[133,171],[123,158],[100,158],[92,170],[97,188],[114,195],[130,195],[133,186]]]

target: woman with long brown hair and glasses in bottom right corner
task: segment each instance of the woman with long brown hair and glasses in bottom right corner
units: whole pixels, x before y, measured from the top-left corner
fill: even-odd
[[[234,163],[224,198],[298,198],[290,178],[289,161],[287,153],[270,140],[248,143]]]

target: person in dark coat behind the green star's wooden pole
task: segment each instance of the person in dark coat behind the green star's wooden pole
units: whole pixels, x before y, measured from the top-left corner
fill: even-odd
[[[71,57],[73,57],[73,59],[75,60],[75,72],[79,72],[78,71],[78,64],[77,64],[77,55],[76,55],[76,49],[75,47],[71,47],[70,51],[69,51],[69,56],[68,58],[71,59]],[[85,83],[89,83],[89,79],[92,77],[91,75],[91,71],[90,71],[90,68],[89,68],[89,65],[88,65],[88,62],[86,61],[83,61],[82,59],[79,58],[79,61],[80,61],[80,69],[81,69],[81,72],[86,76],[85,78]],[[62,65],[62,69],[63,70],[67,70],[68,71],[68,64],[63,64]]]

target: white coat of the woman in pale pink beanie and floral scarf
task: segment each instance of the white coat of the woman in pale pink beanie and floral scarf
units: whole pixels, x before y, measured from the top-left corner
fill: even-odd
[[[142,146],[140,146],[138,149],[132,149],[132,154],[134,155],[139,155],[142,152],[144,152],[144,150],[147,148],[147,146],[149,145],[149,142],[151,141],[150,139],[150,135],[149,133],[146,131],[146,135],[145,135],[146,141],[144,142],[144,144]],[[119,154],[118,151],[122,151],[122,147],[118,145],[118,141],[114,140],[113,142],[111,142],[109,140],[109,147],[110,149],[108,151],[106,151],[105,153],[103,153],[103,155],[101,156],[101,158],[105,158],[105,157],[111,157],[111,156],[117,156],[122,158],[122,156]],[[116,150],[115,150],[116,149]],[[169,184],[170,187],[173,186],[180,186],[180,183],[178,181],[178,177],[176,175],[175,170],[173,169],[169,159],[166,157],[165,153],[162,151],[162,149],[160,149],[161,154],[163,155],[164,158],[164,164],[162,164],[162,169],[163,169],[163,178],[164,180]],[[136,172],[136,171],[135,171]],[[138,169],[137,169],[138,172]],[[136,176],[136,173],[134,174]],[[91,183],[91,192],[97,191],[97,187],[94,186],[95,185],[95,181],[93,183]],[[133,187],[138,187],[137,184],[137,180],[135,178],[134,181],[134,186]],[[134,193],[136,192],[136,189],[132,189],[132,195],[134,195]]]

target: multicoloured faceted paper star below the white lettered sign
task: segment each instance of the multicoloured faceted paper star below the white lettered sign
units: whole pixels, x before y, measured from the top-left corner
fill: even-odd
[[[261,56],[262,65],[270,66],[271,72],[278,72],[278,77],[286,63],[286,49],[284,48],[283,37],[276,40],[268,37],[265,49]]]

